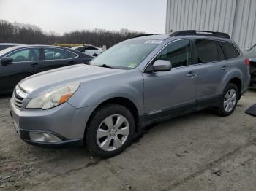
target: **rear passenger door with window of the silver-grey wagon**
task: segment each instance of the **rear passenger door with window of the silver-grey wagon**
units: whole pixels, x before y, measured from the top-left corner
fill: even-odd
[[[195,55],[197,63],[197,106],[217,101],[220,93],[219,85],[229,64],[225,63],[225,55],[219,42],[211,39],[195,39]]]

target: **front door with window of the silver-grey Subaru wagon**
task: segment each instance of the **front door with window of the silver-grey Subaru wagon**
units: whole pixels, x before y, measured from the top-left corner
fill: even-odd
[[[156,58],[170,61],[170,71],[143,74],[145,113],[163,114],[191,109],[195,105],[196,71],[193,70],[189,39],[170,42]]]

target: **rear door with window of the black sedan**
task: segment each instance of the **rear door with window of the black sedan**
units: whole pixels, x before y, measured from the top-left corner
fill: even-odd
[[[78,55],[74,52],[56,47],[43,47],[42,59],[45,71],[70,66],[79,62]]]

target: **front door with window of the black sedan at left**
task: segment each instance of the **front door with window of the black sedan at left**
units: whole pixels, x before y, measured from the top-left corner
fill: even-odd
[[[15,50],[6,56],[13,61],[7,65],[0,65],[1,92],[13,90],[21,79],[42,71],[42,61],[37,47]]]

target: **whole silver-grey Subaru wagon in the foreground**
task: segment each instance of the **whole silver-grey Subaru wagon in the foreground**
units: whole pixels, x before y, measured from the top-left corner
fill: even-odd
[[[232,114],[249,81],[248,59],[228,34],[178,31],[128,39],[89,65],[27,77],[10,113],[30,144],[86,144],[112,157],[152,123],[207,108]]]

